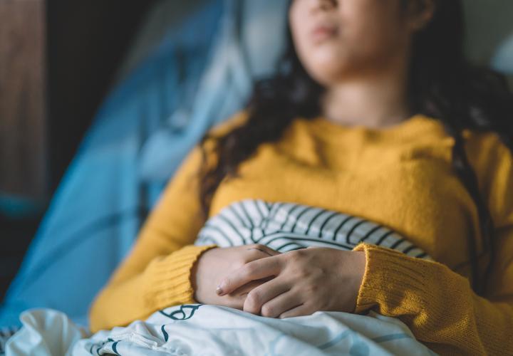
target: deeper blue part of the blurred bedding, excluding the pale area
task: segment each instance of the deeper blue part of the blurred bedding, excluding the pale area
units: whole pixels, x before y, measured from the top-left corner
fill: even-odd
[[[222,0],[212,0],[170,28],[110,94],[9,287],[0,325],[19,325],[21,311],[34,307],[56,308],[86,323],[93,296],[128,252],[165,184],[140,179],[141,147],[190,100],[180,89],[199,83],[222,11]]]

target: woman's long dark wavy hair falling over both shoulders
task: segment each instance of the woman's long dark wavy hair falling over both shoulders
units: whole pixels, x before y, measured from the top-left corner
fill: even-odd
[[[430,23],[413,38],[408,103],[412,112],[440,120],[447,134],[455,140],[452,167],[475,201],[480,233],[486,244],[484,253],[489,253],[489,265],[481,279],[475,234],[469,234],[472,288],[483,295],[495,258],[494,225],[481,197],[477,176],[467,160],[462,131],[495,132],[513,151],[513,133],[508,125],[513,112],[513,95],[503,75],[466,61],[461,0],[435,0],[435,6]],[[259,145],[280,140],[294,118],[309,119],[321,112],[319,102],[324,89],[301,65],[290,28],[287,37],[289,45],[276,75],[254,84],[247,105],[247,122],[220,137],[207,133],[200,142],[204,147],[204,142],[213,139],[218,157],[214,167],[204,164],[200,172],[200,199],[205,217],[220,182],[237,177],[239,164],[249,159]],[[203,153],[206,162],[204,149]]]

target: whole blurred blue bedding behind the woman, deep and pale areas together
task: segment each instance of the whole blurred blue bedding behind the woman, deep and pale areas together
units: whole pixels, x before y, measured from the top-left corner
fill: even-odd
[[[274,72],[286,2],[209,0],[111,93],[7,292],[0,325],[20,325],[28,308],[88,324],[93,297],[187,152]]]

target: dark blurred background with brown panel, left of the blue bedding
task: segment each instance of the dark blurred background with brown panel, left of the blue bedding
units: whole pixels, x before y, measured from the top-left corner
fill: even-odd
[[[156,2],[0,0],[0,295]]]

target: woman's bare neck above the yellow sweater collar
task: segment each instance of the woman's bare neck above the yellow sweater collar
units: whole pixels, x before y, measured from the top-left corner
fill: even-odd
[[[408,80],[405,66],[370,78],[352,78],[328,87],[321,101],[323,116],[341,125],[388,127],[407,120]]]

